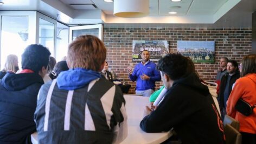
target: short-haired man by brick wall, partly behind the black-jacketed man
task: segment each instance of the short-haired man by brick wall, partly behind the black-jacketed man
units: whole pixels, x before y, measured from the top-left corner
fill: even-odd
[[[220,69],[217,71],[217,76],[215,81],[215,83],[217,83],[217,94],[219,94],[219,91],[220,91],[221,78],[224,74],[227,73],[227,63],[228,63],[228,58],[226,57],[220,58]]]

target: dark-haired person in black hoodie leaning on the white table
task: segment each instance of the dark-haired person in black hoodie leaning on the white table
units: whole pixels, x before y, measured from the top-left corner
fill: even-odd
[[[182,143],[225,143],[213,98],[190,59],[170,53],[158,61],[157,69],[168,91],[155,111],[146,108],[140,128],[147,133],[174,128]]]

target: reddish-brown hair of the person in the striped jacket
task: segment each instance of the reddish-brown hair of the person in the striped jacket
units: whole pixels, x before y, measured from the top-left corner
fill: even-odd
[[[95,36],[76,37],[68,46],[68,66],[69,68],[81,67],[99,72],[106,59],[106,51],[103,42]]]

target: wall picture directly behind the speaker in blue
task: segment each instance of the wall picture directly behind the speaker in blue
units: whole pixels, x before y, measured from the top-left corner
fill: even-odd
[[[167,40],[133,40],[132,61],[142,61],[143,50],[148,50],[151,61],[158,61],[162,56],[169,53]]]

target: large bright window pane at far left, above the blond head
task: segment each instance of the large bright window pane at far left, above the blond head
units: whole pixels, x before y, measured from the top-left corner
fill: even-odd
[[[21,68],[21,54],[29,45],[28,16],[2,16],[1,18],[1,70],[9,54],[18,56]]]

